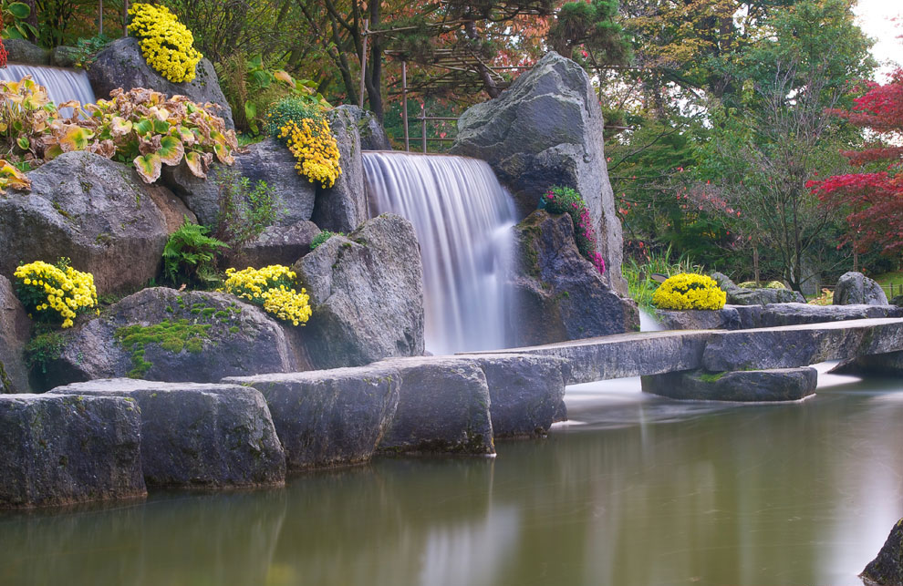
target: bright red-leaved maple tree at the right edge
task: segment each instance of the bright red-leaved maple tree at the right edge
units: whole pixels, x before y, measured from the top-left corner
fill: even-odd
[[[867,84],[852,110],[832,110],[877,138],[843,154],[863,172],[807,184],[824,205],[846,210],[847,242],[860,252],[878,246],[886,255],[903,252],[903,69],[887,84]],[[869,172],[870,171],[870,172]]]

